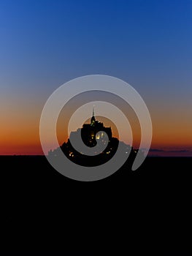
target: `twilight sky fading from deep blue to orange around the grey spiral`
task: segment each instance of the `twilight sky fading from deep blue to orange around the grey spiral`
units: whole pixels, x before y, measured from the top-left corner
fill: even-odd
[[[0,154],[42,154],[47,98],[69,80],[101,74],[145,100],[153,154],[192,156],[191,28],[190,0],[0,0]]]

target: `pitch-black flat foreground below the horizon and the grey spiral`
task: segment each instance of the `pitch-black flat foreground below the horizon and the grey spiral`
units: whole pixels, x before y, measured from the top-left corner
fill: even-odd
[[[0,161],[2,252],[191,255],[192,158],[150,157],[94,182],[45,157]]]

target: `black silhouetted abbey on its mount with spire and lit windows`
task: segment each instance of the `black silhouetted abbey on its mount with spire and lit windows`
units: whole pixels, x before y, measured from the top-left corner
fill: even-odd
[[[94,147],[95,154],[93,156],[88,156],[74,149],[72,146],[72,139],[82,138],[83,143],[88,147]],[[108,136],[108,138],[107,138]],[[70,141],[71,140],[71,141]],[[97,149],[99,148],[99,143],[104,144],[106,148],[101,154]],[[72,162],[75,162],[79,165],[85,166],[95,166],[101,165],[104,162],[109,161],[112,156],[115,154],[118,148],[118,144],[121,143],[121,146],[125,148],[124,154],[129,154],[128,159],[132,162],[137,153],[142,154],[141,151],[134,149],[132,146],[126,145],[122,141],[119,141],[118,138],[112,137],[111,127],[104,127],[104,124],[96,120],[93,110],[93,116],[91,117],[90,124],[83,124],[82,128],[77,129],[76,132],[71,132],[67,143],[64,143],[60,148]],[[57,157],[59,154],[59,148],[49,151],[50,157]]]

